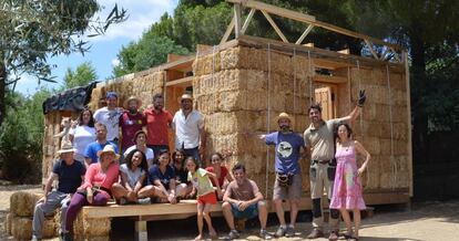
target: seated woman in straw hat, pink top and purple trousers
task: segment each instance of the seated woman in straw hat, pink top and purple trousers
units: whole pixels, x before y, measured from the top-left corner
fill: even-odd
[[[73,222],[83,206],[105,206],[111,198],[111,188],[119,180],[120,166],[112,145],[98,153],[99,161],[91,164],[84,175],[84,182],[73,195],[65,217],[64,240],[72,240]]]

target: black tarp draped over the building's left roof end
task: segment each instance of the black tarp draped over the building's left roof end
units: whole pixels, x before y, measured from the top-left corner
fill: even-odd
[[[74,87],[55,94],[43,102],[43,114],[58,111],[81,112],[91,101],[92,90],[98,83]]]

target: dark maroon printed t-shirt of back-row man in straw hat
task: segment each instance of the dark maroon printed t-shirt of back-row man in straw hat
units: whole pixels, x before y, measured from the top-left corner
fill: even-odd
[[[129,112],[124,112],[120,116],[119,125],[121,127],[121,134],[123,135],[121,143],[122,150],[134,145],[135,133],[142,130],[142,127],[145,126],[145,116],[143,116],[142,113],[131,115]]]

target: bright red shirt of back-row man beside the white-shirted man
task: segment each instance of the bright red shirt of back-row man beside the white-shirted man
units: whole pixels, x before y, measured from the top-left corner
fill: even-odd
[[[149,108],[145,109],[143,114],[146,118],[146,144],[169,146],[167,128],[173,119],[171,113],[165,109],[156,113]]]

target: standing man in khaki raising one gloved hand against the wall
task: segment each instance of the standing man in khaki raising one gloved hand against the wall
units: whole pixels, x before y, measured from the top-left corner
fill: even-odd
[[[307,235],[308,239],[324,237],[324,219],[320,199],[325,191],[328,202],[332,199],[333,185],[335,180],[335,126],[340,122],[353,122],[360,114],[360,108],[366,101],[365,91],[359,92],[358,104],[354,111],[345,117],[322,119],[322,107],[318,104],[312,105],[308,109],[310,125],[304,133],[305,144],[310,149],[310,199],[313,201],[313,231]],[[330,235],[329,240],[338,240],[339,231],[339,210],[330,209]]]

